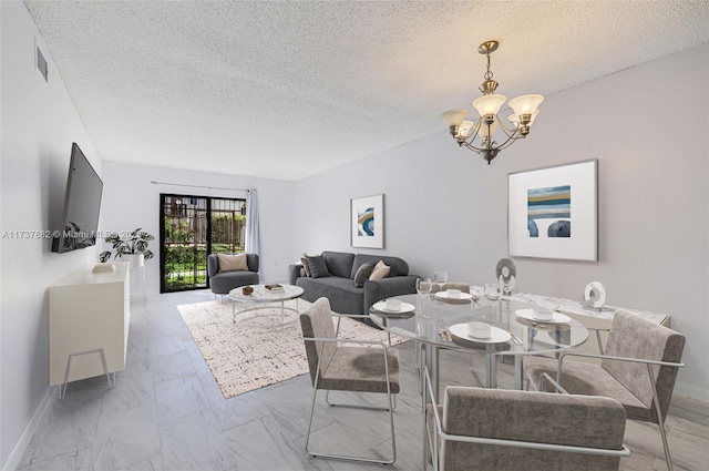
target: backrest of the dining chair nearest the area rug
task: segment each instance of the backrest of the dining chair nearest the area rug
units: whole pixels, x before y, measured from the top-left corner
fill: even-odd
[[[328,298],[319,298],[312,306],[300,315],[300,328],[304,338],[336,338],[335,326],[332,324],[332,311]],[[306,345],[306,357],[310,369],[310,380],[315,386],[316,372],[318,370],[318,359],[320,358],[320,347],[322,347],[322,361],[320,368],[326,369],[337,351],[336,342],[322,342],[304,340]]]

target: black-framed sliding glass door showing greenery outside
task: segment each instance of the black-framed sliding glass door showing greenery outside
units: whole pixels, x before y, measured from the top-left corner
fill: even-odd
[[[161,194],[161,293],[209,286],[207,255],[244,252],[246,201]]]

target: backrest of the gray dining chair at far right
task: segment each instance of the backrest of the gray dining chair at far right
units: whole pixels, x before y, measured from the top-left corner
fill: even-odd
[[[618,311],[613,317],[605,355],[638,358],[644,360],[680,362],[685,349],[685,337],[659,324],[631,313]],[[628,361],[603,360],[602,367],[618,382],[651,409],[653,421],[657,412],[653,405],[653,386],[647,365]],[[679,368],[653,367],[662,418],[667,416],[675,380]]]

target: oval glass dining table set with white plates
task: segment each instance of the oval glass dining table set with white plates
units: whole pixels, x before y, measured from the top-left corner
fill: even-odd
[[[401,301],[401,308],[387,308],[386,300],[376,303],[369,315],[379,327],[420,346],[420,367],[428,367],[434,393],[439,395],[439,350],[485,352],[486,386],[497,387],[497,359],[514,358],[515,388],[522,389],[522,361],[526,355],[557,354],[582,345],[588,330],[578,320],[553,311],[541,320],[545,309],[531,303],[503,297],[491,303],[476,294],[446,291],[434,295],[404,295],[390,299]],[[495,305],[496,304],[496,305]],[[549,311],[546,310],[546,315]],[[469,322],[482,321],[491,326],[486,338],[472,337]],[[477,378],[476,378],[477,379]],[[479,381],[480,382],[480,381]]]

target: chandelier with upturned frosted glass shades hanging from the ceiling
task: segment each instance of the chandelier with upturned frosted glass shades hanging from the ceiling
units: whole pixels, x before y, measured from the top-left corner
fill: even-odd
[[[505,102],[506,96],[496,94],[499,83],[492,80],[492,71],[490,70],[490,54],[497,50],[500,43],[497,41],[485,41],[480,44],[477,52],[487,57],[487,72],[485,72],[485,81],[480,85],[482,96],[473,101],[473,107],[477,110],[480,119],[476,121],[464,121],[467,116],[467,110],[449,110],[441,114],[443,121],[451,131],[451,135],[458,142],[458,145],[465,146],[471,151],[477,152],[487,165],[497,153],[508,147],[518,139],[526,137],[530,134],[530,127],[534,123],[534,119],[540,114],[537,106],[544,101],[542,95],[521,95],[510,100],[510,107],[514,111],[507,120],[511,126],[502,122],[497,112]],[[495,132],[501,130],[497,135],[503,137],[502,144],[494,140]]]

